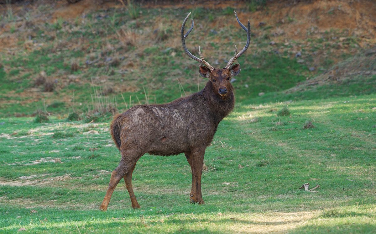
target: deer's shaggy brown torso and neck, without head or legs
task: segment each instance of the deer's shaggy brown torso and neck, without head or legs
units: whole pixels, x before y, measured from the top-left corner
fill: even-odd
[[[117,115],[111,134],[119,150],[132,145],[143,154],[167,156],[207,147],[235,103],[233,94],[222,100],[213,95],[212,88],[209,81],[190,96],[166,104],[134,106]]]

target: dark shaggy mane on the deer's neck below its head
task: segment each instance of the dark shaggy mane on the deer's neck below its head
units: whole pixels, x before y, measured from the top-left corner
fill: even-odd
[[[233,94],[233,87],[227,88],[226,96],[220,96],[218,91],[215,90],[211,81],[206,83],[205,88],[199,92],[199,96],[205,98],[206,102],[209,102],[206,107],[209,109],[209,113],[213,116],[213,119],[219,123],[221,120],[229,115],[235,105],[235,96]]]

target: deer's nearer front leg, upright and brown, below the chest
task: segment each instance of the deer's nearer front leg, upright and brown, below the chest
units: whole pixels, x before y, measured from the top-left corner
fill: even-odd
[[[200,205],[205,204],[204,200],[202,199],[201,193],[201,175],[202,175],[202,163],[204,161],[205,155],[205,147],[202,147],[198,151],[192,153],[192,166],[196,185],[196,191],[191,197],[191,203],[198,202]]]

